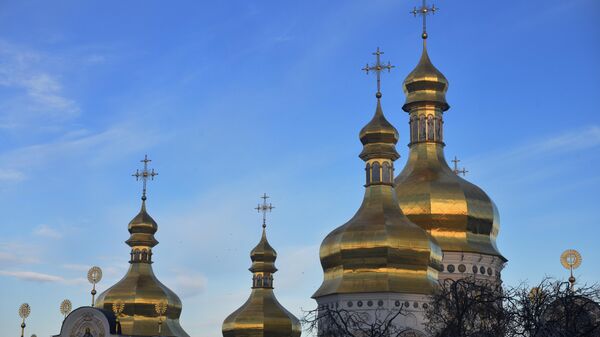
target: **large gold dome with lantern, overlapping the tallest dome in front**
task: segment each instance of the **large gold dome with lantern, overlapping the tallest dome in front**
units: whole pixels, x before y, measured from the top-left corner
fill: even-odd
[[[398,207],[392,186],[398,134],[377,102],[361,131],[366,191],[354,217],[323,240],[324,280],[313,298],[343,293],[429,294],[438,282],[442,252]]]

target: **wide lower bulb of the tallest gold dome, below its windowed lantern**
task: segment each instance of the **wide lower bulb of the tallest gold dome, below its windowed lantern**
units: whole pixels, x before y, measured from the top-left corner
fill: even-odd
[[[427,230],[443,251],[481,253],[506,261],[496,247],[500,230],[496,205],[481,188],[454,173],[442,145],[411,145],[395,185],[404,214]]]

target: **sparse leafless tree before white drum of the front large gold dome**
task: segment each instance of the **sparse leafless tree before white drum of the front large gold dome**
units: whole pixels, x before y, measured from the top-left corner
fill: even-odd
[[[413,330],[399,327],[396,318],[406,315],[403,306],[397,309],[378,308],[355,311],[321,307],[307,311],[302,325],[313,336],[326,337],[418,337]]]

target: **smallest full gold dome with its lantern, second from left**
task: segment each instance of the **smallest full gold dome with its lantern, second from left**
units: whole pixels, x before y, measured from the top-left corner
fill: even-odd
[[[300,337],[300,321],[287,311],[273,292],[273,273],[277,252],[267,241],[263,227],[262,237],[250,254],[252,292],[239,309],[223,322],[224,337]]]

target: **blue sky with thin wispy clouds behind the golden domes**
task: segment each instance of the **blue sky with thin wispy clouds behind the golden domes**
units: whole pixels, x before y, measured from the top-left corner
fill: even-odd
[[[58,333],[58,306],[90,301],[128,264],[127,223],[148,153],[160,175],[158,277],[192,336],[220,336],[249,293],[253,210],[276,206],[276,293],[301,316],[322,238],[362,199],[358,131],[375,108],[360,71],[381,47],[396,68],[383,107],[407,157],[402,80],[416,65],[419,1],[1,1],[0,335]],[[450,81],[446,155],[497,203],[509,284],[600,279],[600,4],[439,1],[429,51]]]

